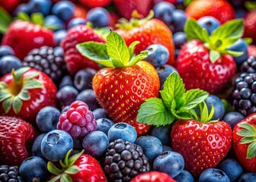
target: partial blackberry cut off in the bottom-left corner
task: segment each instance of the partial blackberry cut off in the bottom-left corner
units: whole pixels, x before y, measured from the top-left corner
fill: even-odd
[[[22,177],[18,173],[17,166],[0,165],[0,181],[1,182],[22,182]]]

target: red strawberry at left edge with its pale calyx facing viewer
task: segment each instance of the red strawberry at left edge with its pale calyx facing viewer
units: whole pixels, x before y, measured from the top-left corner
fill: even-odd
[[[56,105],[56,86],[41,71],[21,67],[0,79],[0,114],[36,123],[41,108]]]

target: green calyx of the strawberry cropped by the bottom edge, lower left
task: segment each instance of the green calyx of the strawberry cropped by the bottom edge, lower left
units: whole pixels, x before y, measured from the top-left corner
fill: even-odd
[[[62,160],[59,161],[59,164],[61,165],[62,169],[57,168],[56,165],[53,165],[52,162],[48,162],[47,163],[48,171],[56,175],[49,182],[55,182],[57,180],[60,180],[61,182],[62,181],[72,182],[73,180],[72,180],[72,177],[70,177],[70,174],[77,174],[79,172],[78,166],[74,164],[78,160],[78,158],[81,157],[84,151],[85,150],[82,150],[81,152],[69,157],[70,153],[72,152],[72,149],[70,149],[69,152],[67,152],[66,157],[64,158],[64,161]]]

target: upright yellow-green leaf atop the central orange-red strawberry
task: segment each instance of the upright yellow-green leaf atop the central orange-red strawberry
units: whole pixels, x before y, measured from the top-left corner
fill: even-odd
[[[107,54],[110,58],[114,58],[116,61],[120,61],[115,67],[122,67],[121,64],[126,65],[130,61],[130,52],[127,48],[126,42],[122,36],[115,32],[111,32],[107,36]]]

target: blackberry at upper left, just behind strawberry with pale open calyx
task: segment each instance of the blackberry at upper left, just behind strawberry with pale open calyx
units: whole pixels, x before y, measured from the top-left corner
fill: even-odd
[[[66,62],[61,47],[42,46],[39,49],[33,49],[24,58],[23,65],[43,71],[55,83],[66,74]]]

